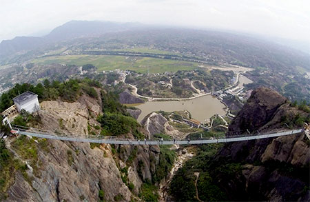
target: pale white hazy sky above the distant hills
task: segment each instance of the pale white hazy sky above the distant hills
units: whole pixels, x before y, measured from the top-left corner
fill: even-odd
[[[0,41],[70,20],[220,28],[309,41],[309,0],[0,0]]]

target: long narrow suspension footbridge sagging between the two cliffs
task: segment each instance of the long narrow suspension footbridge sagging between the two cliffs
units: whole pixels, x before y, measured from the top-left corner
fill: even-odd
[[[27,128],[20,125],[12,125],[12,133],[22,134],[30,137],[39,137],[45,139],[58,139],[63,141],[76,141],[76,142],[88,142],[88,143],[105,143],[105,144],[120,144],[120,145],[174,145],[174,144],[209,144],[209,143],[229,143],[236,141],[250,141],[256,139],[265,139],[271,137],[282,137],[292,134],[298,134],[305,132],[309,138],[309,125],[305,128],[296,130],[285,130],[282,132],[273,132],[265,134],[245,134],[234,137],[225,137],[220,139],[195,139],[195,140],[137,140],[137,139],[121,139],[118,137],[99,137],[93,135],[81,135],[81,134],[68,134],[64,132],[55,132],[50,130],[41,130],[37,128]]]

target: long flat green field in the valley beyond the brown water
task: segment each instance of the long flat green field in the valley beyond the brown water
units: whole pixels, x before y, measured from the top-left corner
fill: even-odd
[[[156,59],[149,57],[125,57],[113,55],[63,55],[54,57],[41,57],[34,59],[32,63],[51,64],[61,63],[67,65],[85,65],[91,63],[98,71],[103,70],[134,70],[136,72],[149,73],[176,72],[178,70],[194,70],[198,63],[187,61],[175,61],[169,59]]]

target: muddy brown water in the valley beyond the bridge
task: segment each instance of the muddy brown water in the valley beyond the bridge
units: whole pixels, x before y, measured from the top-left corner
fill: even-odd
[[[139,122],[141,122],[147,114],[160,110],[165,112],[187,110],[192,114],[193,119],[200,122],[204,122],[205,119],[209,119],[214,114],[226,114],[224,109],[225,105],[211,95],[185,101],[149,101],[146,103],[134,104],[134,106],[142,111],[138,117]]]

